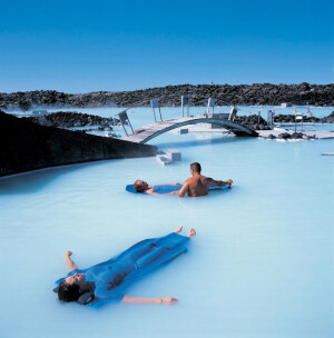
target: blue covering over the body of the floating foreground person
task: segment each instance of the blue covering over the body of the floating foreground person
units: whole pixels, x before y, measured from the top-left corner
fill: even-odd
[[[85,270],[75,269],[67,277],[77,272],[85,274],[86,280],[94,285],[96,300],[121,299],[129,282],[185,252],[188,240],[188,237],[175,232],[145,239],[105,262]],[[59,285],[65,278],[56,284]]]

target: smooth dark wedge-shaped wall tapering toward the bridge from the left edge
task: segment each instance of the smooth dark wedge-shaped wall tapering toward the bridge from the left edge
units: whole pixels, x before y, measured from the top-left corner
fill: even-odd
[[[0,176],[156,152],[157,148],[149,145],[43,127],[0,111]]]

